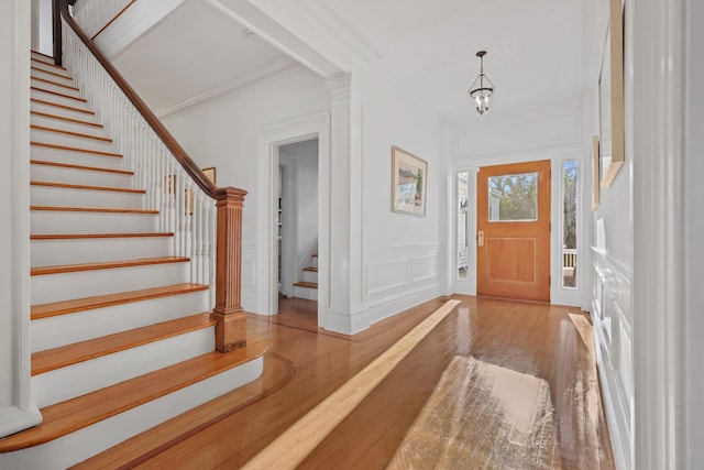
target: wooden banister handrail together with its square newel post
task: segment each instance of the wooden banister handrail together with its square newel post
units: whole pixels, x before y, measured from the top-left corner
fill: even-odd
[[[58,12],[58,13],[57,13]],[[246,316],[241,303],[242,271],[242,207],[246,192],[235,187],[218,188],[176,142],[164,124],[156,118],[138,94],[88,39],[68,12],[67,0],[54,0],[54,57],[62,62],[62,17],[88,47],[96,59],[122,89],[128,99],[151,125],[164,145],[184,167],[196,184],[216,200],[216,305],[212,318],[216,325],[216,349],[228,352],[246,345]],[[57,46],[58,44],[58,46]]]

